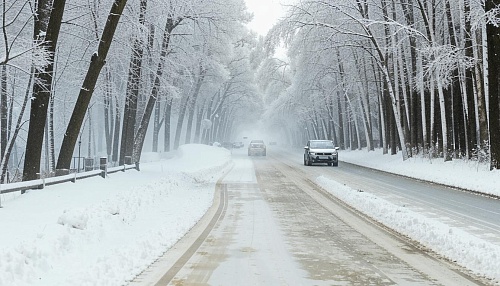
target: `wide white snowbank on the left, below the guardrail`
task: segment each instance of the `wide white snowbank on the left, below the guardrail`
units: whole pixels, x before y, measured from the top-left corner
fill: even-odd
[[[124,285],[211,206],[231,167],[224,148],[185,145],[171,159],[3,194],[0,285]],[[148,156],[146,156],[148,157]],[[155,161],[154,156],[143,161]]]

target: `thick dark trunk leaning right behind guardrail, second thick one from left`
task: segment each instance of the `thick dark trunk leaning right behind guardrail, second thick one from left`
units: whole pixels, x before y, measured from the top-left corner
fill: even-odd
[[[85,113],[92,98],[92,94],[94,93],[101,69],[106,62],[109,47],[126,3],[127,0],[115,0],[113,2],[99,41],[99,47],[97,52],[92,55],[89,69],[68,123],[61,145],[61,151],[59,152],[59,158],[57,160],[57,169],[69,169],[71,165],[71,157],[75,149],[76,141],[78,140],[78,134],[80,133]]]

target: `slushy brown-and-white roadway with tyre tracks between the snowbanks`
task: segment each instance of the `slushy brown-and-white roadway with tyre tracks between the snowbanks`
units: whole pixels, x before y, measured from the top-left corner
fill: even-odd
[[[313,182],[342,172],[371,188],[349,175],[355,168],[305,167],[281,153],[248,158],[242,150],[233,160],[212,209],[131,285],[484,285]]]

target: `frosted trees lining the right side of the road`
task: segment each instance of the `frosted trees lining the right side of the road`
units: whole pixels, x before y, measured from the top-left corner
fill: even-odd
[[[498,0],[297,1],[267,37],[289,56],[261,67],[279,94],[267,117],[290,140],[499,169],[499,11]]]

